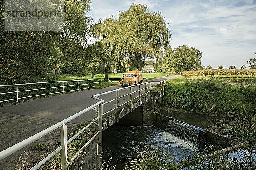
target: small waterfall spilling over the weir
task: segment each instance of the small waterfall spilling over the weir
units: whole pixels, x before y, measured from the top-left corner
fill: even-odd
[[[196,144],[197,140],[201,138],[201,131],[203,130],[200,127],[195,127],[175,119],[169,120],[166,126],[166,132],[192,144]]]

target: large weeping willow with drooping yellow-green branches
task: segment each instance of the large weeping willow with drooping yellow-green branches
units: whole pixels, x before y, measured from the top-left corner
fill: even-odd
[[[148,11],[146,5],[132,4],[119,18],[108,17],[90,27],[90,37],[105,51],[103,57],[105,77],[109,69],[121,67],[141,68],[142,60],[160,60],[172,35],[160,12]]]

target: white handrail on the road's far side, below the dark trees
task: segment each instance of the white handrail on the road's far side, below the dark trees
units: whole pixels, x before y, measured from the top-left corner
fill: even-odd
[[[69,83],[69,82],[76,82],[76,84],[75,85],[67,85],[67,83]],[[12,100],[18,101],[19,99],[25,99],[25,98],[29,98],[29,97],[45,96],[45,95],[49,95],[49,94],[57,94],[57,93],[63,93],[63,92],[90,89],[93,87],[91,85],[99,83],[99,82],[100,82],[100,79],[87,79],[87,80],[67,80],[67,81],[55,81],[55,82],[33,82],[33,83],[23,83],[23,84],[14,84],[14,85],[0,85],[0,88],[10,88],[10,87],[15,88],[15,91],[8,91],[8,89],[3,89],[7,92],[0,93],[0,102],[8,102],[8,101],[12,101]],[[53,84],[62,83],[62,84],[58,85],[58,86],[45,87],[46,85],[49,85],[52,83]],[[26,85],[41,85],[41,87],[20,90],[21,87],[24,88]],[[67,90],[68,87],[77,87],[77,88],[72,89],[72,90]],[[58,91],[45,93],[45,90],[47,90],[47,89],[58,89]],[[20,93],[29,92],[29,91],[39,91],[39,93],[41,93],[41,94],[20,97],[20,95],[19,95]],[[16,94],[16,95],[15,95],[15,97],[11,96],[10,97],[11,99],[3,99],[3,95],[6,95],[6,94]],[[6,96],[4,96],[4,97],[6,97]]]

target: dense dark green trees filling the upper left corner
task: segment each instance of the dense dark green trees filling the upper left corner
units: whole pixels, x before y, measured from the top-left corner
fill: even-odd
[[[4,15],[0,15],[0,82],[32,82],[58,74],[85,74],[83,45],[87,41],[88,22],[84,12],[90,0],[64,0],[65,29],[52,31],[4,31]],[[4,1],[0,2],[4,12]]]

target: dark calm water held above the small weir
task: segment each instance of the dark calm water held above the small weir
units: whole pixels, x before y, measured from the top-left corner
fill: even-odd
[[[190,125],[201,127],[203,129],[212,125],[216,120],[223,118],[222,116],[209,116],[209,115],[203,115],[203,114],[197,114],[197,113],[182,113],[182,112],[166,113],[165,111],[161,111],[160,113],[170,116],[173,119],[186,122]]]

